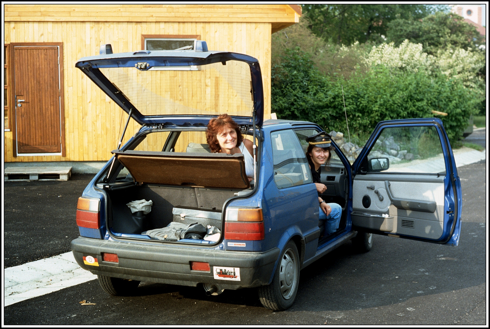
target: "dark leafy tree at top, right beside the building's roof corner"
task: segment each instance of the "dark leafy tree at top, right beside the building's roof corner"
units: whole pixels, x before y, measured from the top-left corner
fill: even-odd
[[[387,24],[396,19],[417,20],[444,6],[425,4],[304,4],[303,17],[325,41],[350,45],[355,41],[381,42]]]

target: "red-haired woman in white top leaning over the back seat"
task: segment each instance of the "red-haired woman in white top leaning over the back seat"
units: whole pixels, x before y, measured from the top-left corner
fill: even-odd
[[[227,114],[209,120],[206,141],[213,153],[243,153],[248,181],[253,179],[253,143],[246,140],[240,126]],[[245,150],[246,149],[246,150]],[[245,151],[245,152],[244,152]]]

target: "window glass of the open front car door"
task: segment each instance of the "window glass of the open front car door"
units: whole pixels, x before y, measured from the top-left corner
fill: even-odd
[[[383,129],[368,154],[368,161],[388,158],[382,172],[445,173],[441,140],[436,127],[391,127]]]

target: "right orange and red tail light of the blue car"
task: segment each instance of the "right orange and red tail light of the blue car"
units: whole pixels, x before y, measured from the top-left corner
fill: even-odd
[[[263,240],[265,235],[262,208],[228,208],[224,238],[228,240]]]

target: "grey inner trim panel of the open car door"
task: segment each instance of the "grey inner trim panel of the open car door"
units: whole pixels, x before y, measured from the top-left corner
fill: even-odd
[[[422,182],[421,175],[410,175],[414,182],[400,182],[396,174],[358,176],[353,183],[352,223],[357,227],[438,239],[444,222],[444,180]],[[374,175],[376,176],[376,174]],[[418,177],[417,177],[418,176]],[[407,179],[407,177],[405,177]],[[389,189],[386,188],[390,183]],[[375,193],[378,191],[378,193]],[[391,192],[392,198],[389,197]],[[369,207],[362,199],[368,196]],[[383,200],[380,200],[380,196]],[[417,199],[415,199],[417,197]],[[408,206],[407,206],[408,203]],[[422,209],[417,209],[418,207]],[[433,211],[430,211],[433,208]],[[383,217],[388,214],[389,217]]]

